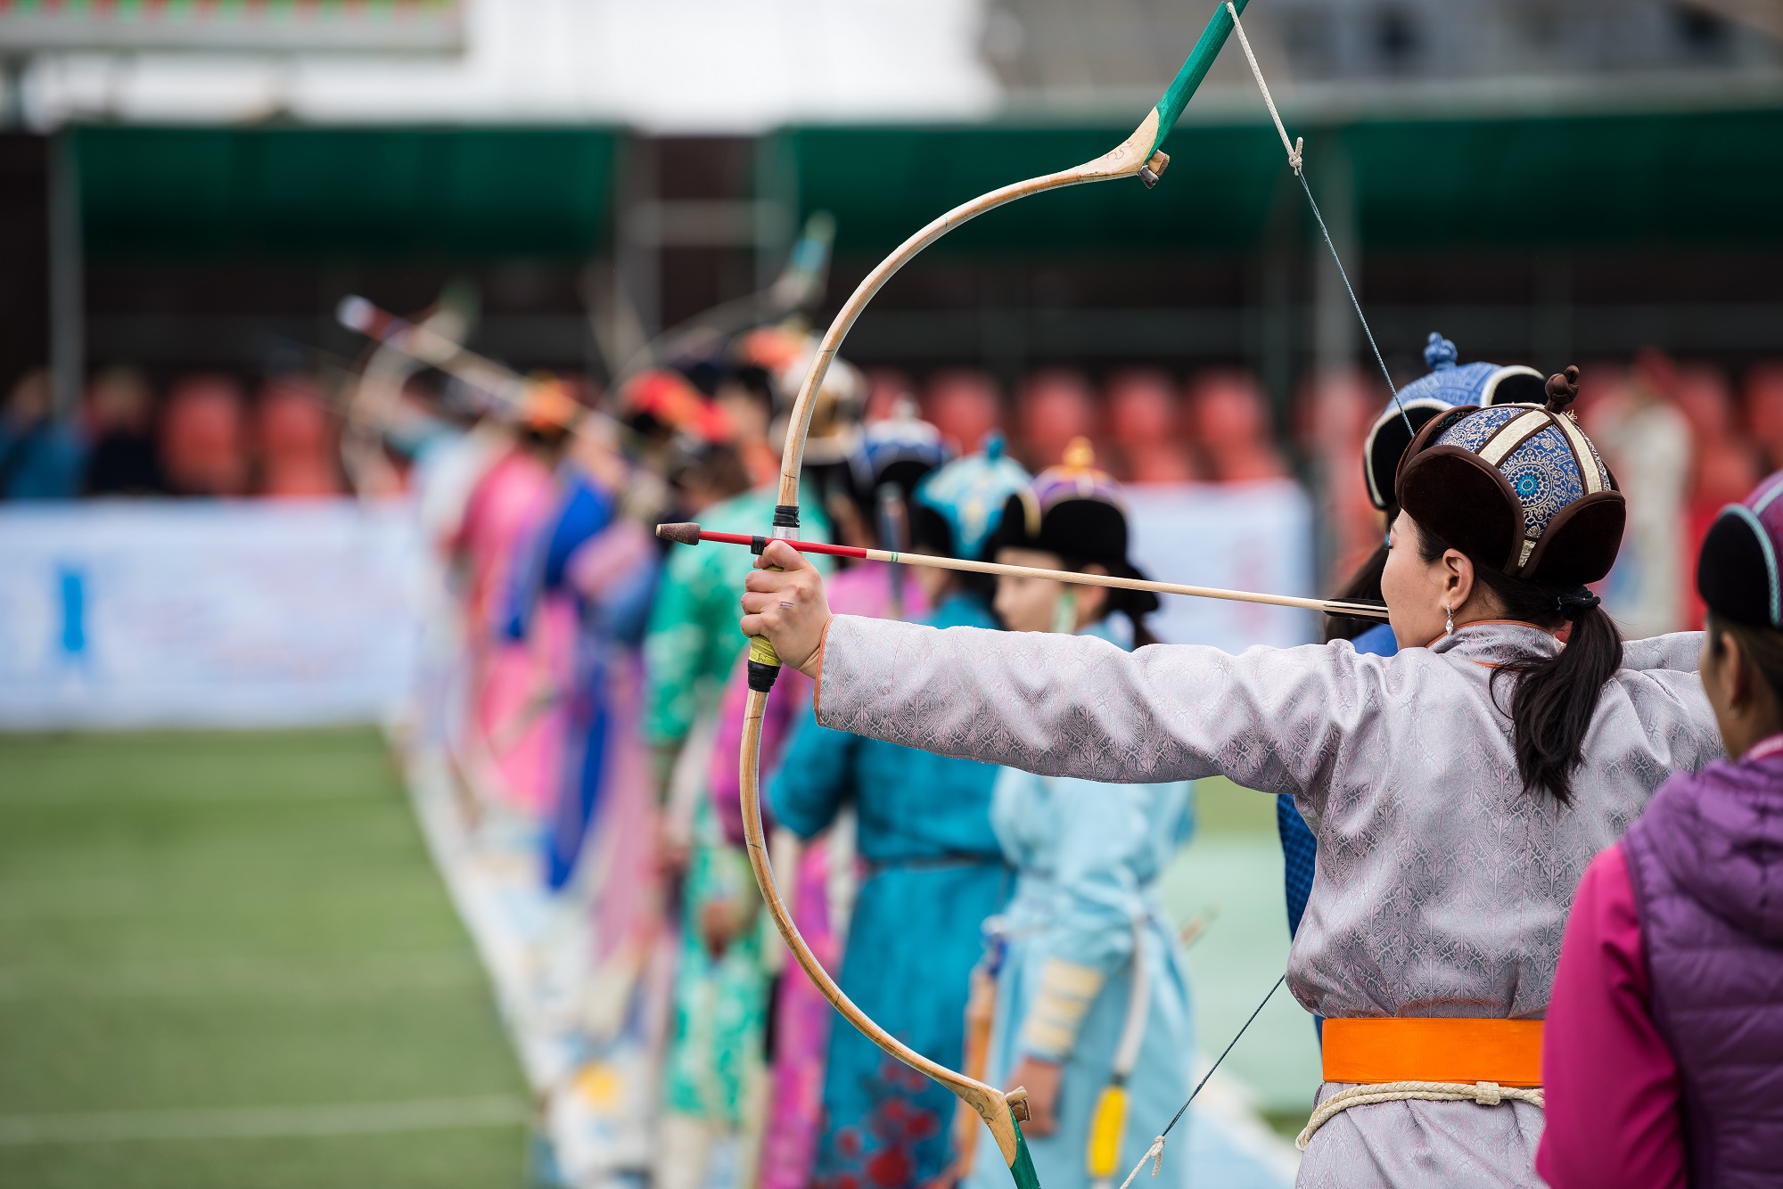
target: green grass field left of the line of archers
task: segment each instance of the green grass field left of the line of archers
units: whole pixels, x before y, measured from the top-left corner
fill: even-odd
[[[374,731],[0,736],[0,1185],[519,1185],[524,1114]]]

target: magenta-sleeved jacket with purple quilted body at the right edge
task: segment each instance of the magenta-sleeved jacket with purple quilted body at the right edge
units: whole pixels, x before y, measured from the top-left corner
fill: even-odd
[[[1542,1080],[1555,1189],[1778,1184],[1783,736],[1667,781],[1587,868]]]

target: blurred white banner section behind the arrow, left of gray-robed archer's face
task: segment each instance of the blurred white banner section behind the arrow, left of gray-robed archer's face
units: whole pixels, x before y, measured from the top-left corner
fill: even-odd
[[[1130,556],[1146,578],[1195,586],[1312,595],[1312,504],[1298,483],[1182,483],[1129,487]],[[1243,652],[1253,644],[1293,647],[1316,640],[1316,615],[1257,603],[1159,595],[1148,622],[1168,644],[1212,644]]]

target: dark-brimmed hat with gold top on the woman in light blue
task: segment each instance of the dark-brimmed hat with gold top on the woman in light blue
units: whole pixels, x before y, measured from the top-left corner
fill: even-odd
[[[986,554],[997,549],[1039,549],[1070,567],[1100,565],[1122,578],[1145,578],[1127,560],[1127,506],[1120,483],[1097,469],[1088,439],[1075,439],[1064,447],[1064,462],[1009,496]],[[1109,604],[1148,615],[1157,610],[1157,595],[1111,590]]]

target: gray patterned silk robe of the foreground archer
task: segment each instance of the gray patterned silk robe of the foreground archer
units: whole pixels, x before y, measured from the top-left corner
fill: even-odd
[[[1558,647],[1526,624],[1467,624],[1396,656],[1346,640],[1123,652],[1093,636],[838,615],[817,711],[840,731],[1043,775],[1227,775],[1293,795],[1319,840],[1287,963],[1307,1011],[1541,1018],[1585,865],[1665,777],[1722,754],[1696,672],[1701,633],[1633,640],[1598,702],[1573,804],[1526,795],[1489,683],[1496,665]],[[1541,1185],[1541,1128],[1528,1103],[1360,1107],[1319,1128],[1298,1184]]]

